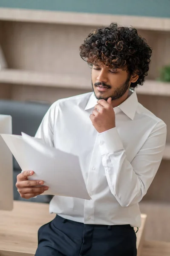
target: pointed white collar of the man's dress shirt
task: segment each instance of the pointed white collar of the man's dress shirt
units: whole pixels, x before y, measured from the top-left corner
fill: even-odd
[[[114,108],[115,113],[118,113],[118,109],[123,111],[130,119],[134,119],[135,112],[138,106],[138,98],[135,91],[129,90],[129,97],[121,103],[118,107]],[[85,110],[88,110],[90,108],[94,108],[94,106],[97,104],[97,99],[95,97],[95,94],[92,93],[89,101],[87,102]]]

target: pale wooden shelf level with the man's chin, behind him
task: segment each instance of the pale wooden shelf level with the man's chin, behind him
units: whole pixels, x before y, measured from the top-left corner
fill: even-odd
[[[92,88],[90,79],[85,77],[10,69],[0,71],[0,83],[65,87],[86,90],[91,90]],[[139,86],[136,89],[136,93],[170,96],[170,83],[147,80],[143,86]]]

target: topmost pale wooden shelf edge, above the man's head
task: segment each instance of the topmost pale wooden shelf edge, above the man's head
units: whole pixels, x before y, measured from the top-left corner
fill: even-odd
[[[136,29],[170,31],[170,18],[130,15],[106,15],[0,8],[0,20],[58,23],[81,26],[108,26],[110,23],[115,21],[121,26],[133,26]]]

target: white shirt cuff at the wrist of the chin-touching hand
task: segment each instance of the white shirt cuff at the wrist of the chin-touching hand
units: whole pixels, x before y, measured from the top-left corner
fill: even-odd
[[[109,154],[124,149],[116,127],[98,134],[98,144],[101,154]]]

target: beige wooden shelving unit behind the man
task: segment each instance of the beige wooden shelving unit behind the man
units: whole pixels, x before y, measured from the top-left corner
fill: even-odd
[[[158,81],[160,68],[170,64],[170,19],[0,8],[0,45],[8,64],[0,71],[0,97],[52,103],[91,91],[91,71],[79,46],[92,29],[111,22],[135,27],[153,48],[147,79],[136,92],[167,124],[167,145],[144,200],[170,202],[170,83]]]

